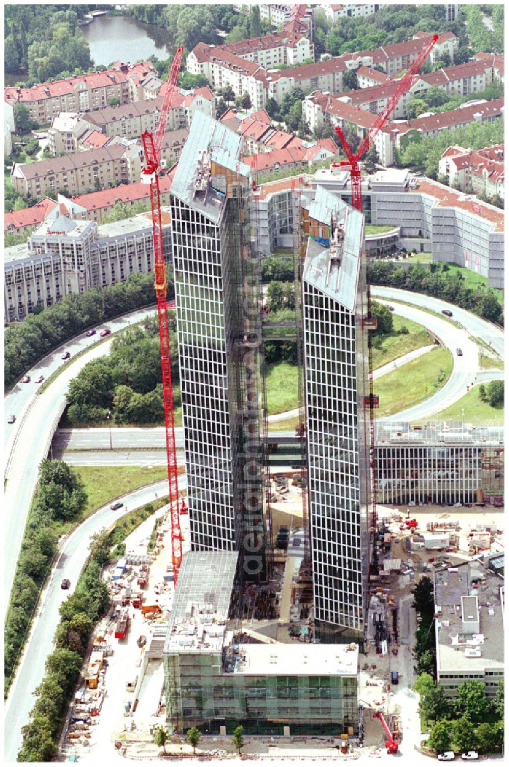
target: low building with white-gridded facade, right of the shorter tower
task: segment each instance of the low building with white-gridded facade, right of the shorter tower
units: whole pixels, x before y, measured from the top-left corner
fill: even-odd
[[[376,502],[472,503],[504,492],[504,429],[378,421]]]

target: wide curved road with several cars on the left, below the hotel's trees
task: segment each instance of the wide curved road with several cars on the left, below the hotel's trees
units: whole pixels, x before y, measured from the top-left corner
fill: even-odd
[[[122,330],[128,322],[139,321],[148,314],[153,314],[153,310],[134,312],[129,317],[108,322],[107,327],[111,327],[112,332],[113,329]],[[48,377],[53,370],[61,366],[63,349],[76,354],[77,351],[91,347],[77,360],[71,361],[40,395],[35,392],[34,384],[31,383],[18,384],[5,397],[5,412],[13,412],[11,408],[17,403],[21,407],[23,417],[18,411],[20,418],[13,424],[15,431],[8,435],[4,450],[7,463],[4,472],[7,479],[4,492],[4,535],[5,540],[9,542],[8,548],[4,550],[4,614],[8,606],[31,498],[37,484],[38,466],[48,455],[52,433],[64,409],[67,387],[87,362],[107,354],[113,340],[110,338],[103,344],[95,344],[94,338],[96,336],[81,336],[45,358],[46,362],[41,363],[37,370],[44,370],[44,376]],[[48,367],[44,367],[46,365]],[[31,370],[30,375],[32,380],[37,377],[35,370]],[[26,388],[23,390],[21,387]],[[8,429],[11,428],[12,426],[8,426]]]

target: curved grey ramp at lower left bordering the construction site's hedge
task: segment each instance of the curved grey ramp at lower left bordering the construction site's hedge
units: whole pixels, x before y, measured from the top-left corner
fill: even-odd
[[[182,489],[185,486],[186,477],[179,477],[179,488]],[[124,495],[121,499],[124,503],[122,509],[113,511],[109,505],[103,506],[94,515],[88,517],[59,547],[60,558],[41,597],[31,637],[25,647],[18,675],[11,686],[11,692],[5,704],[4,755],[6,762],[15,762],[21,748],[21,727],[28,722],[28,714],[34,705],[33,691],[41,683],[44,676],[44,663],[53,650],[53,637],[59,619],[58,608],[76,587],[77,576],[87,560],[90,535],[97,530],[110,527],[126,511],[138,509],[155,500],[158,495],[160,498],[167,492],[168,482],[165,479]],[[71,589],[62,591],[63,578],[70,579]]]

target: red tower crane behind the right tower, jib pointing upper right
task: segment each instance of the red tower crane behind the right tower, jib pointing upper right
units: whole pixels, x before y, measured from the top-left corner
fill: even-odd
[[[347,159],[341,160],[339,163],[333,163],[333,167],[340,167],[345,165],[350,166],[350,184],[352,186],[352,205],[361,213],[363,212],[363,190],[362,190],[361,181],[360,181],[359,160],[363,156],[363,154],[369,149],[376,135],[386,124],[387,120],[389,119],[389,115],[391,114],[394,107],[396,107],[396,104],[398,103],[399,99],[402,97],[404,93],[406,93],[406,91],[408,91],[410,84],[412,82],[412,77],[419,70],[419,67],[422,65],[425,59],[428,58],[437,40],[438,40],[438,35],[432,35],[432,38],[429,40],[428,44],[425,45],[425,47],[422,49],[419,56],[415,59],[411,67],[409,67],[409,70],[406,71],[406,73],[402,76],[401,80],[396,86],[396,90],[392,94],[392,97],[390,97],[389,101],[387,102],[385,109],[378,115],[378,117],[376,117],[376,120],[373,123],[373,126],[369,129],[368,133],[366,133],[366,136],[360,142],[360,145],[355,154],[353,153],[350,144],[347,143],[343,130],[341,130],[339,126],[337,126],[336,128],[336,133],[340,137],[341,146],[343,146],[343,151],[346,154]],[[371,330],[376,330],[376,324],[374,323],[373,318],[371,317],[371,289],[369,285],[369,259],[366,259],[366,301],[367,301],[367,307],[366,307],[367,317],[365,318],[365,321],[363,322],[364,327],[369,328]],[[374,474],[374,466],[375,466],[375,445],[374,445],[375,443],[375,412],[374,410],[375,410],[375,407],[378,407],[378,397],[375,397],[373,394],[373,350],[370,343],[368,344],[368,353],[369,353],[369,397],[366,397],[367,401],[365,404],[369,405],[369,437],[370,437],[369,466],[371,469],[371,499],[372,499],[372,506],[373,506],[372,528],[373,528],[373,531],[376,531],[376,501],[375,501],[375,474]],[[378,572],[378,561],[377,561],[377,555],[376,555],[376,542],[374,540],[373,540],[372,551],[373,551],[373,555],[369,563],[370,572],[373,572],[373,574],[376,574]]]

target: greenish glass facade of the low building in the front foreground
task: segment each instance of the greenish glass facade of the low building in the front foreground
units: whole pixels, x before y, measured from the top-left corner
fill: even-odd
[[[220,653],[164,656],[170,732],[195,726],[228,735],[337,735],[356,728],[356,676],[276,676],[225,673]]]

